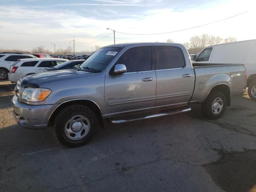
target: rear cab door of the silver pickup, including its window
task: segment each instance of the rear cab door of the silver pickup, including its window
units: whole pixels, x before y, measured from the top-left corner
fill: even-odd
[[[182,106],[192,96],[194,72],[176,46],[155,46],[156,108]]]

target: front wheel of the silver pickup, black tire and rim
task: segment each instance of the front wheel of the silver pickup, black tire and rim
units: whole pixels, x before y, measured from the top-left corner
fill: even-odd
[[[98,126],[95,113],[84,105],[71,105],[60,110],[54,120],[57,139],[67,147],[87,144]]]

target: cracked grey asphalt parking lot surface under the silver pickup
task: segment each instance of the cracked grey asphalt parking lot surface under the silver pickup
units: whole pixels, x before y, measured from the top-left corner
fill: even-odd
[[[218,120],[192,112],[114,125],[66,148],[52,128],[12,117],[15,84],[0,82],[0,191],[256,192],[256,102],[232,98]]]

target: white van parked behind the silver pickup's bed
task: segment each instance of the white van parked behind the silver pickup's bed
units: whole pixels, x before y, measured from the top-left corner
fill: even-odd
[[[205,47],[192,64],[198,66],[207,63],[244,64],[248,94],[256,101],[256,39]]]

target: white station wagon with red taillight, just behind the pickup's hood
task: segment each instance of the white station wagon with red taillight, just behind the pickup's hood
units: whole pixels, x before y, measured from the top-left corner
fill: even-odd
[[[19,59],[10,67],[8,79],[10,82],[16,83],[22,76],[42,73],[44,68],[53,67],[66,61],[68,60],[59,58]]]

